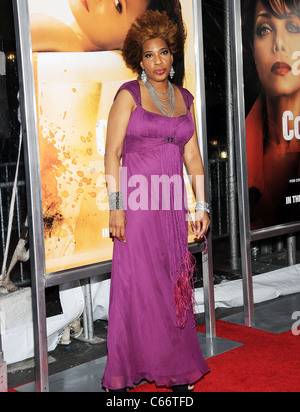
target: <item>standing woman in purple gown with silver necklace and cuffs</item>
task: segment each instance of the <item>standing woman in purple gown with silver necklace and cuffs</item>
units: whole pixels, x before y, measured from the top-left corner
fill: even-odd
[[[124,60],[140,77],[119,89],[107,130],[114,238],[102,381],[108,391],[126,391],[142,379],[174,392],[192,391],[209,371],[193,314],[195,262],[188,250],[183,164],[197,199],[198,239],[210,224],[204,169],[193,96],[169,81],[184,42],[165,13],[147,11],[124,43]]]

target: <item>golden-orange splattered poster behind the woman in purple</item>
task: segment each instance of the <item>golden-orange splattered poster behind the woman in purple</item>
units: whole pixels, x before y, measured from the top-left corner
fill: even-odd
[[[124,38],[152,3],[28,0],[47,273],[112,258],[107,119],[118,88],[136,79],[121,56]],[[181,0],[181,6],[188,31],[184,86],[195,94],[193,2]],[[194,200],[191,189],[188,199]]]

